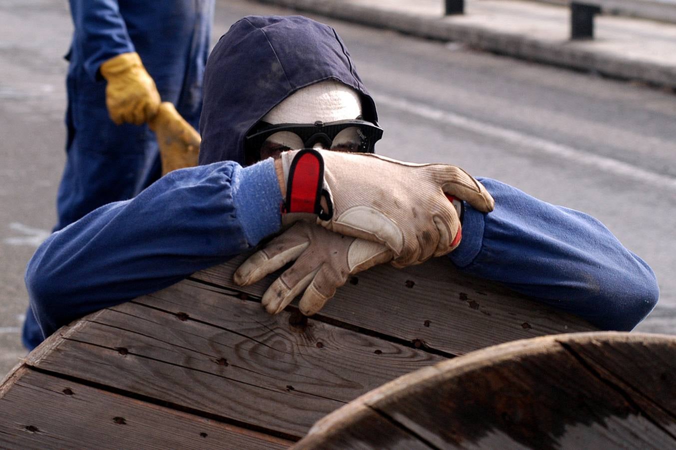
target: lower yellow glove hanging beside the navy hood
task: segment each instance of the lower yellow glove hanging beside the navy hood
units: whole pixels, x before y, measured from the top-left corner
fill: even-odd
[[[178,114],[171,102],[160,104],[158,113],[148,120],[148,126],[158,138],[162,175],[177,168],[197,166],[199,133]]]

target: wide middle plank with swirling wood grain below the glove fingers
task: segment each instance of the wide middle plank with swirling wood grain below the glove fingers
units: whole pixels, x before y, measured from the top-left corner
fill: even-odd
[[[443,360],[289,318],[185,281],[81,320],[28,363],[299,438],[364,392]]]

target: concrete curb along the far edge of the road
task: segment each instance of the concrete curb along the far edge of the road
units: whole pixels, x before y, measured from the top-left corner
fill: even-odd
[[[636,61],[603,51],[581,49],[575,42],[550,42],[525,35],[496,32],[480,26],[452,24],[406,12],[387,11],[341,0],[258,0],[378,28],[387,28],[417,37],[456,41],[503,55],[554,64],[613,78],[635,80],[676,89],[676,67]]]

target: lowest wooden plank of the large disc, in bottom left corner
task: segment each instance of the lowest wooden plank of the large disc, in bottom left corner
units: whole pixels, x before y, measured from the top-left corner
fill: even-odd
[[[21,367],[0,397],[3,449],[284,449],[290,441]]]

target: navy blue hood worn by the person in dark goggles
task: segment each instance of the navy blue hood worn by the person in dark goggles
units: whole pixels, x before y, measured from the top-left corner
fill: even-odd
[[[244,163],[244,137],[276,104],[333,78],[360,93],[364,120],[373,99],[333,28],[303,16],[248,16],[214,46],[204,71],[199,164]]]

